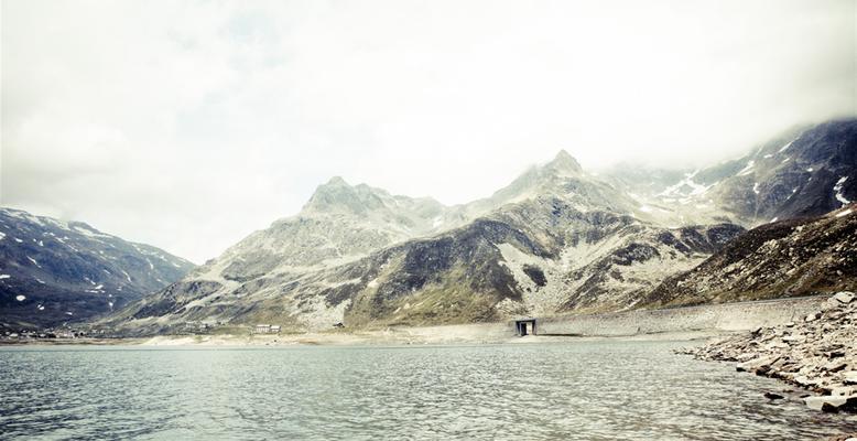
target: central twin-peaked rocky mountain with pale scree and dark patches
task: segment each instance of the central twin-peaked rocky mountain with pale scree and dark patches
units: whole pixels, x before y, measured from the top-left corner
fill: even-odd
[[[193,321],[327,329],[627,309],[742,232],[669,228],[633,215],[638,206],[566,152],[488,198],[452,207],[334,179],[299,215],[112,324],[139,333]]]

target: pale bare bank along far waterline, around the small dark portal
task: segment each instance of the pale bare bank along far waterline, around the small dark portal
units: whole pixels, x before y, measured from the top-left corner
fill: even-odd
[[[820,308],[824,297],[725,303],[652,311],[564,315],[538,319],[536,336],[516,337],[512,323],[387,327],[281,335],[158,336],[144,345],[397,345],[549,343],[579,338],[694,340],[774,326]]]

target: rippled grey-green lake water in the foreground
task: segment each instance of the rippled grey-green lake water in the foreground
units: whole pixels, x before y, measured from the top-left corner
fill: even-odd
[[[857,417],[683,343],[0,348],[0,439],[817,439]]]

